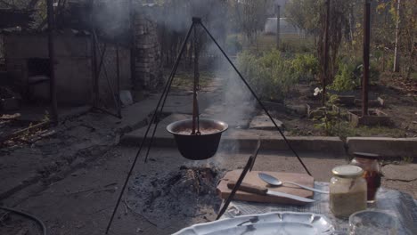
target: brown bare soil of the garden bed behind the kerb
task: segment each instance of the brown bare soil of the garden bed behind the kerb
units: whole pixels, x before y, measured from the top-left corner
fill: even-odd
[[[314,96],[314,89],[317,85],[299,84],[295,91],[287,97],[287,105],[320,105],[320,97]],[[355,95],[356,99],[361,99],[361,91],[356,90],[344,95]],[[381,107],[370,107],[370,109],[380,109],[387,113],[391,119],[390,126],[357,126],[352,127],[346,118],[340,118],[338,125],[339,131],[334,135],[341,138],[347,136],[379,136],[379,137],[417,137],[417,82],[405,81],[401,77],[391,77],[383,75],[380,85],[372,85],[370,88],[370,101],[378,97],[384,100]],[[342,107],[342,109],[345,109]],[[349,109],[361,109],[360,106]],[[284,122],[289,135],[316,135],[323,136],[326,133],[322,128],[316,126],[320,121],[305,116],[290,113],[275,112],[275,118]]]

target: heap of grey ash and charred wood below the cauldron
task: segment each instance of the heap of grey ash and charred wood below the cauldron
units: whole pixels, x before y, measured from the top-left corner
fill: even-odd
[[[127,204],[159,227],[172,220],[207,222],[221,205],[216,188],[224,173],[216,166],[181,166],[167,174],[141,175],[129,189]]]

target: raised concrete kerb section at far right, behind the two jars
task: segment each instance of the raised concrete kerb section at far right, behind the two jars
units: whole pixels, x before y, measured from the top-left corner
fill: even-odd
[[[370,152],[381,157],[417,157],[417,138],[347,137],[347,150]]]

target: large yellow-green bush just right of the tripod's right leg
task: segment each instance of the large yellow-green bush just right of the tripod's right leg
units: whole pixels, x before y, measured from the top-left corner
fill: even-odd
[[[290,61],[285,60],[277,50],[257,57],[243,52],[238,57],[241,73],[255,92],[264,100],[283,101],[297,77],[291,73]]]

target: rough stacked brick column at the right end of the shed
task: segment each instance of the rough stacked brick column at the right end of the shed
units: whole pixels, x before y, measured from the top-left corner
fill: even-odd
[[[154,89],[162,79],[157,24],[135,16],[135,90]]]

